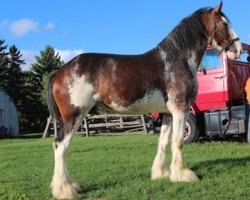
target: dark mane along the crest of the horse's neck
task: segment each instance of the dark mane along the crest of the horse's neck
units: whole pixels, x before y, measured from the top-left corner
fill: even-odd
[[[176,50],[183,51],[190,49],[197,43],[197,38],[200,38],[200,44],[207,41],[207,36],[201,22],[201,15],[210,13],[212,8],[206,7],[195,11],[191,16],[184,18],[173,31],[158,44],[158,47],[169,52]],[[222,13],[222,16],[228,18]]]

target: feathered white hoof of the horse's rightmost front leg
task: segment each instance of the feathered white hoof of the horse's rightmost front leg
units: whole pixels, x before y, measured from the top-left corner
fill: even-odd
[[[190,169],[173,170],[170,174],[170,180],[173,182],[192,182],[198,181],[197,175]]]

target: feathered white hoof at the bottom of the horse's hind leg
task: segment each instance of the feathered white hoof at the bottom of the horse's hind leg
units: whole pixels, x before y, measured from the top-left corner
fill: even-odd
[[[81,187],[75,182],[56,183],[52,181],[50,187],[52,195],[56,199],[74,199],[81,190]]]

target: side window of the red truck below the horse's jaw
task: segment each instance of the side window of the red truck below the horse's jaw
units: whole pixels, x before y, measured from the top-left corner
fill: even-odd
[[[200,70],[215,69],[220,67],[220,55],[216,53],[213,49],[206,50],[201,64],[199,66]]]

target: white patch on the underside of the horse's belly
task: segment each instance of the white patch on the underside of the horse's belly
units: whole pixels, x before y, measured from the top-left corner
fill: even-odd
[[[109,105],[114,111],[123,114],[146,114],[151,112],[167,112],[165,98],[159,90],[146,93],[143,98],[123,106],[115,101]]]

